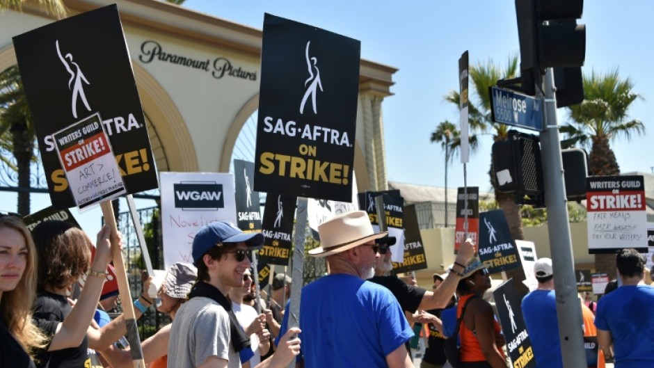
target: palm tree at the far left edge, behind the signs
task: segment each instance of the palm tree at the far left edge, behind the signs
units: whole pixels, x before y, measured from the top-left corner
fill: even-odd
[[[18,67],[0,72],[0,137],[16,159],[19,214],[30,213],[30,165],[36,160],[36,133]]]

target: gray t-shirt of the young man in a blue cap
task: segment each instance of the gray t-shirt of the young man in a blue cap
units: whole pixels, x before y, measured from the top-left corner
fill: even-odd
[[[240,368],[239,353],[230,344],[230,316],[210,298],[191,298],[177,310],[168,342],[168,367],[196,368],[210,356]]]

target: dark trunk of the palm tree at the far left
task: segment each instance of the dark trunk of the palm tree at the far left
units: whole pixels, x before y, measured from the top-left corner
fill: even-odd
[[[34,137],[27,129],[27,122],[22,120],[10,128],[13,143],[13,155],[18,168],[18,202],[17,212],[30,214],[30,164],[33,157]]]

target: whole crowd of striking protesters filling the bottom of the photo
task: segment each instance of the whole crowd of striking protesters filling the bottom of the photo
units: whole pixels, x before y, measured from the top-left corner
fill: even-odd
[[[507,367],[497,312],[485,298],[490,276],[472,241],[447,273],[433,275],[428,291],[388,275],[395,239],[374,232],[365,211],[322,223],[319,236],[309,254],[326,258],[328,273],[303,287],[299,326],[289,328],[292,279],[275,275],[267,303],[256,294],[250,257],[262,234],[225,221],[202,227],[193,264],[173,264],[160,284],[147,278],[143,289],[156,285],[157,298],[134,301],[136,319],[153,306],[173,320],[141,344],[147,367],[273,368],[296,361],[308,368],[407,368],[413,323],[424,325],[428,341],[421,368],[449,367],[443,346],[456,330],[458,367]],[[104,313],[118,298],[117,287],[105,282],[108,274],[115,278],[115,247],[122,248],[121,235],[106,226],[94,244],[62,221],[43,221],[30,232],[19,217],[0,216],[0,368],[132,366],[131,346],[116,344],[127,333],[125,317],[111,321]],[[643,282],[645,259],[625,249],[616,264],[620,287],[597,303],[580,295],[580,329],[600,349],[588,367],[604,367],[605,357],[616,368],[654,366],[654,289]],[[552,260],[539,259],[534,273],[539,284],[522,311],[536,366],[563,367]]]

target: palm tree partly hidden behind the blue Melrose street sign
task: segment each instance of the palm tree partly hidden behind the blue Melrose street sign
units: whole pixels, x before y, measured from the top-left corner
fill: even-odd
[[[470,67],[470,79],[472,80],[474,95],[477,99],[474,103],[472,99],[470,99],[470,104],[468,105],[470,131],[487,131],[488,127],[492,127],[493,141],[502,141],[507,138],[507,133],[509,131],[508,126],[493,122],[493,119],[490,116],[490,95],[488,94],[488,88],[495,86],[497,81],[500,79],[516,77],[517,72],[517,55],[509,56],[507,65],[505,65],[504,68],[496,65],[492,60],[489,60],[485,64],[480,63]],[[459,99],[460,96],[454,90],[451,90],[445,96],[447,102],[456,104],[457,107],[459,106]],[[492,168],[489,172],[489,176],[490,183],[493,184],[493,188],[496,189],[497,182],[495,182]],[[509,230],[511,230],[511,236],[513,239],[525,239],[522,220],[520,218],[520,207],[516,205],[513,195],[500,193],[495,190],[495,200],[497,200],[500,208],[504,211],[504,215],[507,216]]]

